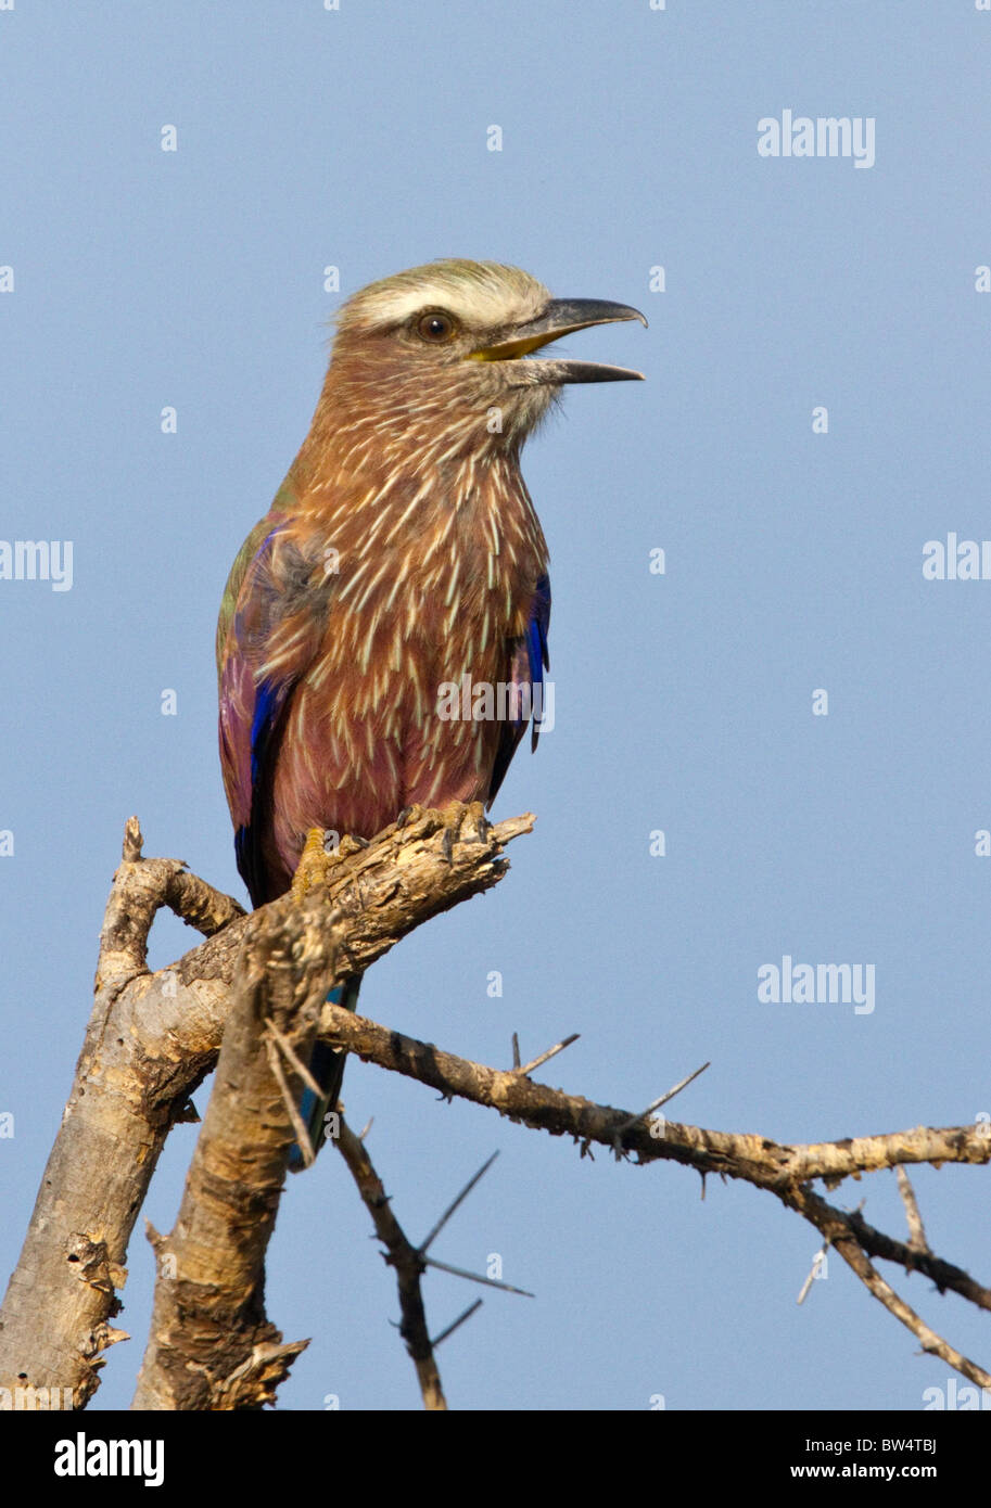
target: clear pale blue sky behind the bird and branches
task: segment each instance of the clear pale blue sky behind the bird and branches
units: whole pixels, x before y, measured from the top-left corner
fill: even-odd
[[[362,1010],[501,1065],[514,1030],[525,1057],[581,1031],[548,1081],[630,1110],[712,1060],[671,1113],[780,1140],[991,1113],[991,582],[922,570],[926,541],[991,537],[989,48],[970,0],[0,8],[0,535],[72,541],[71,590],[0,579],[5,1271],[125,817],[243,896],[213,632],[318,395],[326,267],[345,296],[490,258],[650,320],[569,341],[647,382],[572,389],[525,455],[557,725],[496,816],[532,810],[535,832],[496,893],[374,967]],[[759,121],[786,110],[875,121],[873,164],[760,155]],[[160,921],[152,964],[189,938]],[[875,1009],[759,1001],[786,955],[873,965]],[[839,1259],[795,1304],[819,1243],[751,1188],[710,1179],[703,1202],[685,1169],[579,1160],[371,1066],[348,1065],[345,1102],[374,1116],[413,1237],[501,1151],[436,1255],[499,1253],[537,1297],[486,1292],[442,1348],[456,1407],[911,1411],[947,1386]],[[173,1131],[155,1176],[161,1231],[195,1136]],[[986,1280],[986,1173],[914,1184],[935,1250]],[[893,1175],[833,1197],[904,1234]],[[976,1312],[887,1276],[982,1359]],[[97,1408],[130,1399],[151,1289],[139,1228],[134,1339]],[[431,1273],[434,1330],[474,1297]],[[281,1407],[418,1405],[329,1152],[282,1202],[267,1307],[312,1336]]]

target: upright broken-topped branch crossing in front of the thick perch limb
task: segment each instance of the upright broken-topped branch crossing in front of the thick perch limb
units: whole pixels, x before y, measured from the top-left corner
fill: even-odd
[[[154,1243],[155,1306],[134,1408],[261,1408],[308,1344],[284,1345],[264,1312],[264,1258],[297,1134],[268,1024],[294,1053],[312,1047],[335,955],[318,908],[273,909],[244,939],[179,1214],[169,1240]]]

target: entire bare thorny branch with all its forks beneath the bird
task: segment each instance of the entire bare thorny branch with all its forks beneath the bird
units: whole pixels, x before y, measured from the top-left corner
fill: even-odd
[[[272,1399],[305,1345],[284,1345],[268,1324],[262,1282],[285,1155],[296,1136],[287,1098],[291,1102],[300,1084],[297,1050],[314,1034],[416,1078],[445,1098],[457,1095],[552,1136],[572,1136],[582,1155],[602,1145],[638,1164],[676,1161],[703,1176],[719,1173],[774,1194],[816,1226],[869,1292],[919,1338],[923,1351],[979,1386],[991,1386],[991,1375],[929,1329],[872,1265],[872,1258],[894,1262],[907,1273],[925,1274],[940,1292],[953,1291],[991,1309],[988,1288],[929,1250],[907,1179],[908,1243],[875,1231],[860,1211],[827,1203],[813,1187],[822,1181],[833,1190],[845,1178],[860,1179],[879,1169],[904,1173],[908,1164],[985,1164],[991,1161],[986,1126],[917,1126],[807,1146],[707,1131],[537,1084],[528,1072],[540,1059],[525,1069],[486,1068],[323,1003],[336,976],[362,973],[422,921],[495,885],[507,867],[502,844],[531,826],[532,817],[520,817],[492,828],[480,807],[416,811],[401,829],[388,828],[344,858],[326,891],[308,896],[302,908],[282,897],[246,917],[235,900],[178,861],[143,860],[137,822],[128,822],[124,863],[101,933],[94,1012],[0,1315],[0,1407],[12,1407],[18,1389],[56,1386],[71,1387],[75,1405],[83,1407],[98,1386],[101,1353],[125,1338],[110,1320],[119,1310],[116,1291],[127,1276],[134,1218],[164,1139],[176,1120],[189,1117],[189,1095],[214,1066],[222,1038],[228,1053],[225,1025],[232,1071],[223,1075],[225,1083],[217,1075],[214,1098],[220,1102],[214,1108],[211,1099],[190,1169],[189,1218],[176,1221],[167,1243],[154,1237],[157,1249],[167,1246],[176,1259],[178,1279],[173,1273],[158,1282],[142,1407],[259,1407]],[[151,974],[148,933],[161,906],[201,930],[205,941]],[[281,1048],[281,1066],[273,1044]],[[517,1054],[514,1062],[519,1065]],[[244,1083],[265,1105],[262,1133],[255,1128],[253,1139],[238,1122]],[[365,1193],[373,1188],[374,1169],[361,1163],[357,1139],[341,1149],[345,1146],[354,1154],[351,1172]],[[244,1176],[246,1167],[253,1169],[253,1181]],[[388,1212],[388,1203],[382,1211]],[[389,1252],[389,1241],[397,1252],[406,1241],[397,1229],[388,1238],[385,1226],[379,1231]],[[418,1294],[415,1264],[407,1259],[409,1253],[406,1268],[395,1262],[400,1283]],[[422,1264],[422,1253],[416,1261]],[[166,1294],[164,1282],[172,1282]],[[189,1286],[181,1289],[176,1282]],[[225,1345],[216,1347],[211,1338],[223,1327]],[[428,1405],[442,1407],[425,1320],[416,1329],[406,1303],[404,1338],[413,1342]],[[199,1369],[195,1384],[190,1369]]]

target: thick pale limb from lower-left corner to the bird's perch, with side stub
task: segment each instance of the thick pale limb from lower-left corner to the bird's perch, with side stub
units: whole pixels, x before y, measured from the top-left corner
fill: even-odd
[[[508,869],[502,844],[531,828],[529,816],[490,826],[480,804],[418,810],[344,860],[320,906],[345,973],[498,884]],[[148,932],[161,906],[210,935],[149,974]],[[92,1396],[101,1353],[124,1339],[110,1320],[134,1220],[169,1129],[216,1063],[240,949],[253,927],[278,926],[294,908],[282,897],[246,917],[176,860],[142,860],[137,820],[128,822],[83,1051],[0,1310],[0,1389],[69,1389],[75,1407]]]

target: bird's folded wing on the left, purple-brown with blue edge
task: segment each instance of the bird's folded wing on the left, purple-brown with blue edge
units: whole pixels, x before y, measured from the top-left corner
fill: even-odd
[[[244,540],[217,623],[220,766],[237,867],[270,900],[272,781],[293,691],[320,651],[333,578],[275,510]],[[282,888],[282,887],[278,887]]]

